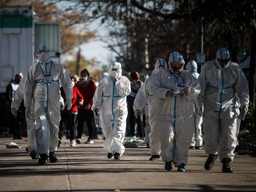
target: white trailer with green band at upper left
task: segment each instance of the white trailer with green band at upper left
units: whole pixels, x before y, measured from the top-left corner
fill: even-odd
[[[33,25],[32,6],[0,8],[0,93],[33,64]]]

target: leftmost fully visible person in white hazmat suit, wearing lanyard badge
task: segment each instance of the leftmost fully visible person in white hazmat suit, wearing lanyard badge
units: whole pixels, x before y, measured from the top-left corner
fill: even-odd
[[[67,109],[72,106],[73,86],[64,67],[52,61],[46,45],[37,49],[38,62],[29,67],[24,88],[24,105],[28,113],[34,101],[36,134],[39,164],[58,161],[55,151],[58,146],[58,131],[60,122],[60,83],[66,94]]]

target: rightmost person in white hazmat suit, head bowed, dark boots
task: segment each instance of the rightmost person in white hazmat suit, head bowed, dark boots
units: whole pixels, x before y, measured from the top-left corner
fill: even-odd
[[[237,144],[237,97],[241,114],[248,111],[249,89],[246,77],[239,65],[230,61],[227,49],[219,49],[216,59],[205,63],[198,78],[201,93],[198,96],[203,112],[204,151],[209,157],[204,165],[212,169],[220,155],[222,172],[233,172],[230,162]],[[242,113],[243,112],[243,113]],[[241,117],[240,117],[241,118]],[[241,118],[243,119],[243,118]]]

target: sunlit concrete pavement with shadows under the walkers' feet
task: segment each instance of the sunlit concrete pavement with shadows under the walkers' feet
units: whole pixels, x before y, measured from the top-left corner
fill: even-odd
[[[7,149],[9,142],[21,148]],[[208,155],[190,150],[187,171],[177,172],[174,167],[168,172],[161,160],[149,161],[150,150],[145,146],[126,148],[122,160],[109,160],[102,140],[75,148],[69,140],[62,142],[56,153],[58,163],[39,165],[25,151],[27,142],[1,138],[0,191],[256,191],[255,157],[237,155],[234,173],[229,174],[221,173],[219,160],[212,170],[204,170]]]

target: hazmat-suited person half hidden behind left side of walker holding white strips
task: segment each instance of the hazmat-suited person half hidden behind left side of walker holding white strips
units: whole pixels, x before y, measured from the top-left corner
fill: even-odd
[[[152,105],[155,100],[154,97],[152,97],[148,93],[148,87],[149,87],[149,82],[151,78],[157,74],[160,70],[163,68],[167,68],[167,63],[164,59],[159,58],[155,64],[154,71],[152,72],[152,75],[148,77],[148,79],[145,80],[143,83],[142,87],[140,87],[136,98],[134,100],[134,115],[137,118],[141,113],[143,113],[143,109],[145,111],[145,116],[146,116],[146,125],[145,125],[145,142],[148,144],[150,143],[150,151],[151,151],[151,157],[149,160],[157,160],[160,158],[160,141],[159,141],[159,128],[158,126],[151,126],[149,124],[149,104]],[[151,119],[153,119],[156,116],[154,106],[151,108]]]

